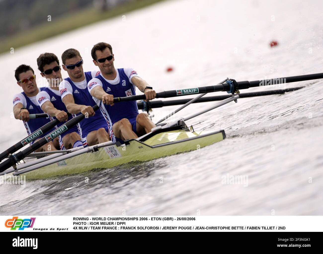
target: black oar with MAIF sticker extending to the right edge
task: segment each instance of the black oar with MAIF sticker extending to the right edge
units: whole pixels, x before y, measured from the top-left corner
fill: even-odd
[[[160,93],[156,93],[156,98],[169,98],[169,97],[177,97],[177,96],[183,96],[183,95],[189,95],[189,94],[204,94],[204,93],[225,92],[225,91],[228,93],[235,93],[240,89],[248,89],[250,87],[277,85],[277,84],[285,84],[285,83],[292,83],[292,82],[299,82],[299,81],[313,80],[313,79],[322,79],[322,78],[323,78],[323,73],[291,76],[291,77],[285,77],[285,78],[264,79],[264,80],[256,80],[256,81],[236,82],[234,79],[230,79],[226,81],[226,83],[219,84],[219,85],[163,91]],[[121,101],[135,101],[135,100],[145,100],[145,99],[146,99],[146,95],[140,94],[140,95],[132,95],[128,97],[114,98],[113,102],[116,103]]]

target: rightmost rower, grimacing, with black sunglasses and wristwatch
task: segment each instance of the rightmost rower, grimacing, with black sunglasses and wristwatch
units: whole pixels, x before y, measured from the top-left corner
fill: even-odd
[[[114,54],[110,44],[100,42],[91,50],[93,62],[101,73],[90,80],[88,89],[100,106],[103,116],[112,121],[115,137],[122,140],[138,138],[151,132],[156,125],[146,113],[138,112],[136,101],[113,104],[113,97],[136,94],[136,87],[146,95],[146,100],[156,97],[156,92],[146,81],[138,77],[133,68],[114,68]]]

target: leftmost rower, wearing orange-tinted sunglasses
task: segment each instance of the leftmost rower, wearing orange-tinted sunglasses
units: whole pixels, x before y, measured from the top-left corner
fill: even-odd
[[[15,78],[17,80],[17,84],[23,89],[24,92],[14,95],[14,116],[16,119],[22,120],[24,122],[27,133],[28,135],[30,135],[31,133],[33,133],[34,131],[36,131],[37,129],[39,129],[40,127],[42,127],[50,121],[49,117],[29,119],[29,114],[43,113],[43,111],[37,103],[36,95],[40,91],[43,91],[45,87],[37,87],[35,72],[29,65],[19,65],[15,71]],[[46,136],[53,130],[54,128],[40,135],[37,139],[30,142],[30,145],[33,144],[36,140]],[[37,149],[36,152],[55,151],[58,149],[58,138],[54,138],[46,145]]]

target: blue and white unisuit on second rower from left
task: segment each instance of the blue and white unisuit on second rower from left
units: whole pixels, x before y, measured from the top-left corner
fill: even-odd
[[[38,105],[40,107],[45,102],[50,101],[56,109],[63,110],[65,112],[67,112],[66,106],[62,102],[62,99],[60,97],[59,90],[54,90],[54,89],[51,89],[49,87],[46,87],[40,93],[37,94],[36,99],[37,99],[37,103],[38,103]],[[49,116],[49,118],[51,120],[55,119],[55,117],[51,117],[51,116]],[[69,116],[68,121],[71,120],[72,118],[73,118],[73,116]],[[58,127],[60,127],[61,125],[65,124],[65,123],[66,122],[59,122],[55,127],[58,128]],[[69,133],[72,133],[72,132],[78,133],[78,128],[76,126],[74,126],[74,127],[68,129],[66,132],[63,132],[61,135],[58,136],[59,147],[60,147],[61,150],[65,149],[64,146],[63,146],[63,137],[66,134],[69,134]],[[73,148],[75,148],[75,147],[81,146],[82,142],[78,141],[78,142],[75,142],[75,144],[72,144],[72,145],[73,145]]]

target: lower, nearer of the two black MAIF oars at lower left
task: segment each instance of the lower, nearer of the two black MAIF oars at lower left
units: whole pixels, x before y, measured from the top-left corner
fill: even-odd
[[[94,105],[93,110],[96,111],[99,109],[98,105]],[[31,152],[37,150],[38,148],[41,148],[43,145],[47,144],[50,140],[53,138],[59,136],[63,132],[67,131],[71,127],[75,126],[78,124],[81,120],[83,120],[85,116],[83,114],[78,115],[74,117],[73,119],[69,120],[66,122],[66,124],[58,127],[51,133],[49,133],[47,136],[44,138],[41,138],[37,140],[34,144],[32,144],[30,147],[18,152],[17,154],[10,154],[9,159],[5,160],[0,164],[0,172],[5,171],[6,169],[10,168],[11,166],[16,167],[16,164],[19,163],[20,160],[24,159],[26,155],[30,154]]]

